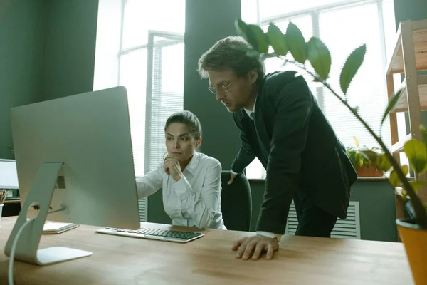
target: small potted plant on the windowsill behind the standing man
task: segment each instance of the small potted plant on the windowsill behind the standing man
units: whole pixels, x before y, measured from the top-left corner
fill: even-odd
[[[359,177],[383,177],[384,171],[376,167],[376,162],[371,161],[369,156],[379,157],[383,153],[378,147],[362,147],[359,148],[359,141],[353,137],[355,147],[347,147],[347,155],[349,155],[350,162],[357,172]],[[371,153],[373,152],[373,153]],[[369,155],[367,155],[367,153]]]

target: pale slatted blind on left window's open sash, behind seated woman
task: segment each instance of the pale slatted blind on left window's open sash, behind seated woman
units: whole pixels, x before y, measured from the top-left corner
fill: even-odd
[[[146,172],[154,170],[167,153],[164,145],[167,118],[184,108],[184,38],[152,36],[149,48],[152,71],[147,82]]]

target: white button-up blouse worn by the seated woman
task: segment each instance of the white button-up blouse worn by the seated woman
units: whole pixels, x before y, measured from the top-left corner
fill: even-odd
[[[194,152],[178,182],[164,172],[163,162],[144,177],[137,177],[138,197],[160,188],[164,211],[172,224],[199,229],[226,229],[221,213],[221,164],[214,157]]]

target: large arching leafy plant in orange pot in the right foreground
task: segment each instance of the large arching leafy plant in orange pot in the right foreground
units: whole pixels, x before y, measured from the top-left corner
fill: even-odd
[[[364,153],[367,154],[369,160],[375,161],[375,165],[379,169],[385,172],[391,170],[389,177],[390,184],[393,187],[402,187],[404,190],[403,195],[407,195],[410,198],[411,208],[413,209],[412,218],[398,219],[396,220],[396,224],[405,245],[413,279],[416,284],[425,284],[427,280],[427,207],[423,205],[423,201],[418,197],[416,191],[426,187],[427,181],[408,180],[406,177],[409,169],[408,165],[399,165],[399,162],[397,162],[387,149],[380,135],[377,135],[363,120],[357,108],[349,105],[346,97],[347,89],[364,60],[366,45],[359,46],[352,51],[345,61],[339,76],[341,91],[338,92],[328,83],[332,63],[331,54],[325,43],[319,38],[313,36],[306,42],[300,29],[292,22],[288,24],[285,33],[280,31],[273,23],[268,26],[268,31],[264,33],[260,26],[248,25],[241,20],[236,21],[236,29],[250,45],[248,48],[243,49],[249,56],[283,58],[284,63],[292,63],[303,72],[310,74],[313,81],[322,83],[325,88],[330,90],[335,98],[349,109],[359,122],[364,125],[364,128],[374,137],[381,149],[384,150],[384,153],[381,154],[376,152]],[[270,46],[273,48],[272,53],[268,52]],[[292,54],[294,60],[285,58],[288,53]],[[310,62],[314,72],[306,67],[305,63],[307,61]],[[381,125],[394,108],[394,105],[399,101],[401,94],[401,90],[398,90],[398,92],[391,96],[389,105],[382,116]],[[424,174],[427,170],[427,131],[423,126],[420,126],[420,128],[423,134],[423,141],[421,142],[412,138],[404,145],[404,152],[408,157],[409,164],[418,175]]]

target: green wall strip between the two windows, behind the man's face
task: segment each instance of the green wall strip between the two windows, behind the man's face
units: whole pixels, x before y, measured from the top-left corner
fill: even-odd
[[[221,161],[228,170],[240,147],[238,130],[222,103],[201,80],[197,61],[216,41],[236,35],[234,21],[241,17],[240,0],[186,0],[184,109],[195,113],[203,128],[201,151]]]

